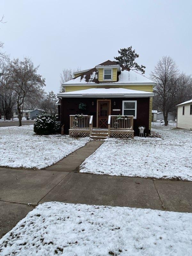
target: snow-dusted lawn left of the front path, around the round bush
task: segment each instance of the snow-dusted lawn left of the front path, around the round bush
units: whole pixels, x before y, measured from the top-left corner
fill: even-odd
[[[40,136],[28,125],[0,127],[0,141],[0,166],[41,169],[83,147],[89,138]]]

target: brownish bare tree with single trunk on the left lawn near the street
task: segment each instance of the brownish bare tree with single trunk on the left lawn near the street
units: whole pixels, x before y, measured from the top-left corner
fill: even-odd
[[[11,61],[11,71],[13,80],[13,90],[17,97],[17,111],[19,118],[19,126],[21,126],[21,108],[24,100],[28,95],[42,89],[45,86],[45,79],[37,74],[39,66],[34,67],[33,62],[29,58],[23,61],[14,59]]]

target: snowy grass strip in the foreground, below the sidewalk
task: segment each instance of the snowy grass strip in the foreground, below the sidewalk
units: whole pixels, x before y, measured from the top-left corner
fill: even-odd
[[[0,240],[0,255],[191,256],[192,213],[49,202]]]

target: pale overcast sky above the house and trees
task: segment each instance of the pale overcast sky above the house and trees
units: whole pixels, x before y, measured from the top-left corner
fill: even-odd
[[[63,68],[92,68],[132,45],[146,76],[163,55],[192,74],[192,1],[0,0],[0,41],[12,58],[40,65],[46,91]]]

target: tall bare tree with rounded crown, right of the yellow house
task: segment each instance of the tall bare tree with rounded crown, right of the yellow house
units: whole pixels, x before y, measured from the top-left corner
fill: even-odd
[[[167,125],[168,112],[174,111],[177,104],[189,97],[190,76],[180,73],[175,61],[169,56],[164,56],[157,62],[150,78],[156,82],[154,105],[163,111]]]

